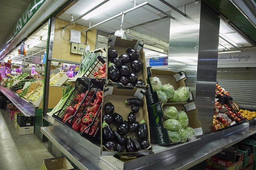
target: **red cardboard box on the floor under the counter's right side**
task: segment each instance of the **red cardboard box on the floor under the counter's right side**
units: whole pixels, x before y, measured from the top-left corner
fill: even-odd
[[[211,170],[239,170],[243,167],[243,156],[237,156],[236,162],[219,159],[212,156],[206,160],[206,166]]]

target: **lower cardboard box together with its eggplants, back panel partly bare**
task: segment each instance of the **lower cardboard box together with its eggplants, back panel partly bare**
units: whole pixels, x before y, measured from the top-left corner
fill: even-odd
[[[134,158],[150,154],[145,89],[105,85],[103,95],[101,155]]]

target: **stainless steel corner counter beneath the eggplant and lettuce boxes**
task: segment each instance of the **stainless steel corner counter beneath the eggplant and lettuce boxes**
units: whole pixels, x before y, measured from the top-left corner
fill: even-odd
[[[113,156],[100,156],[99,145],[58,122],[42,127],[41,132],[80,169],[188,169],[255,134],[256,125],[246,122],[179,145],[153,145],[154,154],[124,162]]]

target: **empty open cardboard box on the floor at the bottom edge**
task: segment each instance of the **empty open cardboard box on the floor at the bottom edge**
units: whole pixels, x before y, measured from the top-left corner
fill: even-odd
[[[66,159],[66,156],[45,159],[40,170],[73,170],[74,167]]]

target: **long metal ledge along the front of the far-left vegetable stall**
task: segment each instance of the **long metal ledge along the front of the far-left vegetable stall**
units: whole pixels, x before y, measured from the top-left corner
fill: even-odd
[[[23,113],[24,116],[27,117],[33,117],[36,113],[36,106],[32,103],[29,103],[25,99],[21,98],[16,93],[12,92],[11,90],[0,86],[0,91],[5,95],[13,104],[16,106],[17,109],[20,110],[20,112]]]

